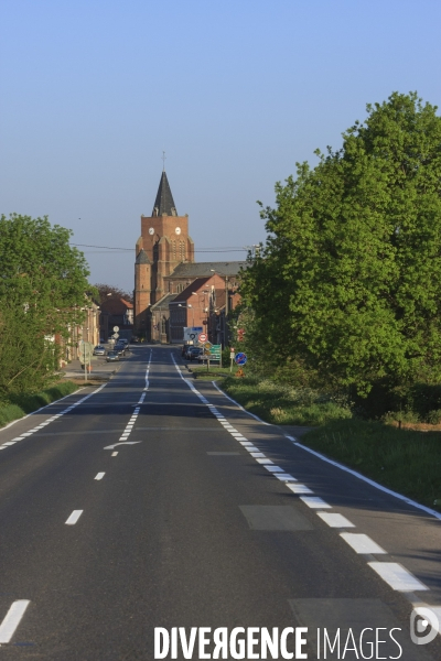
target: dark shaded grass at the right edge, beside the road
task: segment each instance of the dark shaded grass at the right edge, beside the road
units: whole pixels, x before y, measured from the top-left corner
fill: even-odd
[[[302,443],[441,511],[441,433],[342,420],[308,432]]]

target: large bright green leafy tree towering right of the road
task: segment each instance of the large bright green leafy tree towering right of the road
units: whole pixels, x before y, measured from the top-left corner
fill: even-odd
[[[441,378],[441,118],[417,94],[367,111],[277,184],[243,286],[275,360],[362,394]]]

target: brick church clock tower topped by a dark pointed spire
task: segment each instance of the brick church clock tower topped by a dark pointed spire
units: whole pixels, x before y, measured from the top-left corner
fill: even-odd
[[[189,236],[189,215],[178,215],[163,170],[152,214],[141,216],[141,236],[136,247],[136,333],[141,333],[143,327],[148,327],[149,304],[157,303],[169,293],[168,289],[165,291],[164,275],[170,275],[182,262],[194,262],[194,243]]]

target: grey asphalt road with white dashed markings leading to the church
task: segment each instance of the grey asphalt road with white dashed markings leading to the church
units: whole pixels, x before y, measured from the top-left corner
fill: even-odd
[[[216,641],[265,658],[265,628],[280,659],[440,661],[409,622],[418,605],[441,619],[441,521],[180,366],[137,347],[106,386],[0,432],[0,661],[153,659],[155,628],[202,627],[186,658]]]

